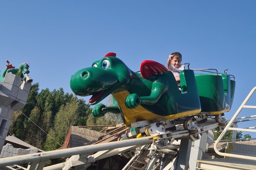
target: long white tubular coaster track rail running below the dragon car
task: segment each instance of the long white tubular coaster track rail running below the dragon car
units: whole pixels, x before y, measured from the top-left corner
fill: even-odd
[[[218,126],[219,126],[219,123],[216,122],[216,123],[205,125],[203,126],[203,128],[204,128],[204,131],[207,131]],[[181,128],[177,131],[172,132],[172,136],[169,136],[169,138],[177,139],[177,138],[186,137],[189,135],[190,135],[189,130],[185,130]],[[89,158],[91,158],[89,156],[90,153],[104,151],[104,150],[113,150],[117,148],[129,147],[129,146],[141,146],[141,145],[153,143],[153,141],[154,141],[153,137],[147,136],[147,137],[127,139],[123,141],[116,141],[116,142],[110,142],[110,143],[96,144],[96,145],[90,145],[90,146],[80,146],[76,148],[67,148],[62,150],[54,150],[54,151],[41,152],[36,154],[14,156],[10,158],[1,158],[0,167],[30,163],[30,168],[29,168],[30,170],[31,169],[36,169],[36,170],[47,169],[47,167],[44,168],[45,163],[48,160],[51,160],[54,158],[62,158],[62,157],[78,155],[80,159],[88,160]],[[61,167],[62,169],[64,165],[61,164],[60,166],[62,166]],[[55,169],[54,165],[53,165],[53,169]]]

